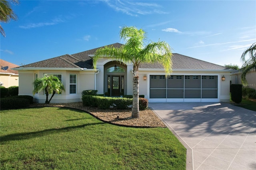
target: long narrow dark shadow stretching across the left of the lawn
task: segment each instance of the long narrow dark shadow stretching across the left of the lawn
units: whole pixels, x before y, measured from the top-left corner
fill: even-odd
[[[67,131],[75,129],[75,128],[84,128],[86,126],[100,125],[100,124],[105,124],[105,123],[104,122],[88,123],[88,124],[84,124],[84,125],[64,127],[64,128],[51,128],[51,129],[41,130],[41,131],[37,131],[37,132],[22,132],[22,133],[8,134],[5,136],[0,136],[0,138],[1,138],[0,143],[4,144],[5,142],[11,141],[11,140],[26,140],[26,139],[40,137],[40,136],[46,136],[46,135],[54,134],[54,133],[67,132]]]

